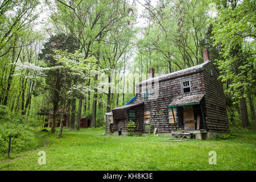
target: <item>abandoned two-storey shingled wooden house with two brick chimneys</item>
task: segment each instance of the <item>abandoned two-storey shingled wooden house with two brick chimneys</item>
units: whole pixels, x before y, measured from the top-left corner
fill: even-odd
[[[158,134],[167,136],[182,131],[183,135],[206,139],[229,133],[218,71],[209,61],[207,49],[203,58],[202,64],[158,77],[150,68],[150,78],[136,85],[136,96],[106,113],[106,133],[127,135],[130,119],[135,122],[135,132],[141,134],[150,123]]]

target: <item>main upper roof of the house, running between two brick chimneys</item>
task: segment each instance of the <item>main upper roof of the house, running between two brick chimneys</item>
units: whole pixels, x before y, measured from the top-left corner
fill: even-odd
[[[193,71],[197,72],[199,71],[200,69],[203,69],[203,67],[210,63],[210,61],[204,61],[204,63],[202,64],[199,64],[199,65],[195,65],[193,67],[189,67],[189,68],[186,68],[186,69],[181,69],[180,71],[176,71],[176,72],[172,72],[172,73],[168,73],[166,75],[162,75],[162,76],[158,76],[158,77],[153,77],[153,78],[148,78],[147,80],[144,80],[144,81],[141,81],[139,82],[138,84],[146,84],[146,82],[148,81],[154,81],[155,79],[158,78],[158,81],[162,81],[162,80],[165,80],[167,78],[172,78],[172,77],[180,77],[180,76],[183,76],[187,73],[192,73]]]

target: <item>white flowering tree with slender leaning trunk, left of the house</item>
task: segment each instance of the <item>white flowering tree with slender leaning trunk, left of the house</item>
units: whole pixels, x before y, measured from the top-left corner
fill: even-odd
[[[102,82],[98,84],[87,84],[88,80],[96,75],[100,75],[104,70],[99,69],[97,60],[93,57],[87,59],[84,58],[84,54],[76,51],[75,53],[69,53],[67,51],[56,50],[53,58],[59,63],[60,71],[64,75],[64,82],[68,77],[75,76],[78,82],[71,85],[65,84],[61,89],[61,97],[63,98],[63,108],[65,108],[68,98],[72,97],[85,97],[88,96],[88,92],[93,93],[96,88],[102,87]],[[59,137],[62,136],[63,131],[63,115],[64,109],[61,113]],[[80,128],[80,121],[77,120],[77,130]]]

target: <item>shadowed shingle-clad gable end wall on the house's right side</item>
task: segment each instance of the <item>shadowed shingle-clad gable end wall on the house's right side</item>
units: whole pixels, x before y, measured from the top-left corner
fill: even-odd
[[[212,63],[204,66],[205,104],[208,129],[213,132],[229,132],[228,115],[223,85]],[[211,75],[212,71],[212,75]]]

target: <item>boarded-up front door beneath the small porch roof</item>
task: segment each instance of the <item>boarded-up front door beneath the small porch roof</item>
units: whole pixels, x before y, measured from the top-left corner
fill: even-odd
[[[184,130],[195,130],[193,106],[183,106]]]

